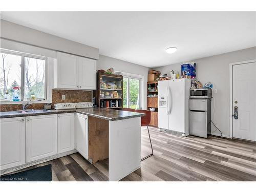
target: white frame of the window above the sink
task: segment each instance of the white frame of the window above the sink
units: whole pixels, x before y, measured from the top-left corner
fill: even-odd
[[[51,98],[51,88],[50,88],[50,70],[49,70],[49,57],[29,54],[29,53],[22,53],[16,52],[11,50],[0,49],[0,53],[12,54],[21,56],[21,74],[20,74],[20,101],[8,101],[0,99],[1,104],[20,104],[20,103],[50,103],[52,101]],[[38,98],[36,100],[25,100],[25,57],[35,58],[35,59],[42,59],[45,60],[45,98]]]

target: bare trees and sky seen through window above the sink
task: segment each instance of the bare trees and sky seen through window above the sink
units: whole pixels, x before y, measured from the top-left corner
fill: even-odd
[[[0,53],[0,99],[5,100],[5,93],[12,100],[13,88],[20,87],[18,94],[22,100],[35,98],[46,99],[46,60],[34,57]],[[24,75],[22,75],[24,71]],[[24,78],[22,81],[22,77]],[[22,82],[24,82],[22,84]]]

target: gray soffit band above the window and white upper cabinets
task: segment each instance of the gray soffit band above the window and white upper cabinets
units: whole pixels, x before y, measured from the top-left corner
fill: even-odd
[[[78,42],[57,37],[0,19],[1,38],[10,39],[41,48],[62,51],[93,59],[99,58],[99,49]]]

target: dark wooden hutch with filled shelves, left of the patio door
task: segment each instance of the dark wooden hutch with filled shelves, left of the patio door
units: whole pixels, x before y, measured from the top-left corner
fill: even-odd
[[[123,76],[97,73],[97,90],[93,97],[98,108],[122,110],[123,106]]]

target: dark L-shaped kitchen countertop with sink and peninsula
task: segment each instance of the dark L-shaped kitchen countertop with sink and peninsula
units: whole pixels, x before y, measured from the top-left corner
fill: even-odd
[[[109,121],[130,119],[130,118],[141,117],[145,115],[143,113],[135,113],[135,112],[121,111],[121,110],[113,110],[113,109],[83,108],[83,109],[73,109],[73,110],[48,110],[47,112],[39,112],[39,113],[33,113],[33,112],[15,113],[14,111],[0,112],[0,118],[26,117],[26,116],[35,116],[35,115],[50,115],[50,114],[61,114],[61,113],[75,113],[75,112],[109,120]]]

